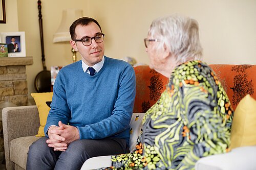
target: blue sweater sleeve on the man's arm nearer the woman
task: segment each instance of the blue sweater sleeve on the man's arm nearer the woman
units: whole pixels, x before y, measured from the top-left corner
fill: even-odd
[[[112,115],[98,123],[77,127],[80,139],[101,139],[110,136],[118,137],[118,133],[129,129],[135,93],[135,71],[134,68],[127,63],[120,75],[117,99]],[[104,97],[107,98],[108,96]],[[129,136],[130,134],[127,133],[126,136],[122,137],[129,138]]]

